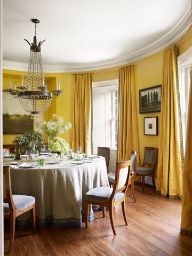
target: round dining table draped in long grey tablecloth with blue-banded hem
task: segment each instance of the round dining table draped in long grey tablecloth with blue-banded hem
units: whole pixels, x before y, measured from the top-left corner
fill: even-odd
[[[39,166],[35,159],[20,161],[4,158],[4,165],[11,166],[12,194],[34,196],[36,199],[36,223],[39,227],[82,227],[85,220],[85,194],[96,187],[109,187],[105,158],[90,156],[81,161],[44,158]],[[16,162],[16,163],[15,163]],[[94,219],[90,207],[89,220]],[[30,225],[30,213],[17,218],[19,228]]]

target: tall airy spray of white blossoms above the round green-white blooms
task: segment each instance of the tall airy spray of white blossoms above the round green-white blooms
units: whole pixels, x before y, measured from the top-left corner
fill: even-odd
[[[50,138],[56,137],[72,127],[70,122],[63,124],[63,118],[57,117],[55,114],[52,114],[50,121],[41,120],[36,126],[38,130],[45,132]]]

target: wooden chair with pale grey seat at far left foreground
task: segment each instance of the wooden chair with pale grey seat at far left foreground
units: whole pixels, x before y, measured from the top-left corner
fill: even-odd
[[[15,233],[15,218],[30,211],[31,222],[35,233],[35,197],[25,195],[12,195],[10,167],[3,167],[3,210],[4,218],[10,219],[9,253],[12,251]]]

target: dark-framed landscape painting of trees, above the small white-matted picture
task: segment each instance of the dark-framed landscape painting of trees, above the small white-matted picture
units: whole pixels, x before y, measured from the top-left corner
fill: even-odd
[[[139,113],[161,111],[161,85],[139,90]]]

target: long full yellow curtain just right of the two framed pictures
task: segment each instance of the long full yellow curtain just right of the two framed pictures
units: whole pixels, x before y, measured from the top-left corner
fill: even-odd
[[[182,197],[182,154],[179,131],[177,46],[164,51],[163,83],[157,192],[171,198]]]

